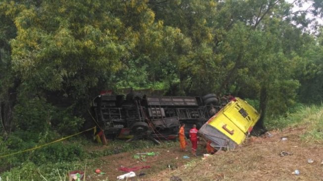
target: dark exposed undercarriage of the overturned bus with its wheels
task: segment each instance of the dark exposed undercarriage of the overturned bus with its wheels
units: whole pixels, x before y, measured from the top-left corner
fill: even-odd
[[[230,102],[230,97],[215,94],[204,96],[147,96],[131,91],[127,95],[102,92],[92,101],[97,126],[107,138],[172,139],[181,123],[185,133],[193,124],[201,128],[207,120]]]

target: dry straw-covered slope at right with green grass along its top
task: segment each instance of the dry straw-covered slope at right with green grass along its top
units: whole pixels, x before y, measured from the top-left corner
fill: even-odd
[[[250,137],[235,150],[193,160],[173,172],[148,180],[169,181],[318,181],[323,179],[323,107],[298,107],[286,117],[267,122],[271,136]],[[281,141],[287,137],[287,141]],[[318,144],[321,143],[321,144]],[[280,156],[281,151],[292,155]],[[313,164],[307,163],[313,159]],[[300,176],[292,175],[300,170]]]

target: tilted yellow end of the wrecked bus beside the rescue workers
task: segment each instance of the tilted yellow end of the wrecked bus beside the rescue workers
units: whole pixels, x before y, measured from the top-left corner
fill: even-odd
[[[234,97],[198,131],[216,150],[232,149],[250,134],[260,114],[246,101]]]

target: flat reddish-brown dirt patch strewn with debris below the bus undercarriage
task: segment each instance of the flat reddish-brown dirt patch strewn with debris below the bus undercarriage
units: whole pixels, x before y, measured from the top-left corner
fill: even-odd
[[[199,155],[204,151],[204,147],[204,143],[199,144]],[[169,148],[147,148],[104,156],[100,158],[100,165],[97,165],[97,168],[105,174],[88,174],[86,181],[117,181],[117,176],[127,173],[119,170],[120,168],[142,168],[134,171],[136,175],[141,174],[142,176],[132,179],[129,178],[128,181],[152,181],[154,179],[151,180],[150,177],[153,175],[162,171],[174,171],[192,160],[199,160],[201,158],[199,155],[195,157],[190,153],[190,145],[186,149],[186,152],[181,152],[178,144],[178,146]],[[147,152],[154,152],[156,155],[140,156],[139,159],[134,158],[134,155],[140,155],[137,153]],[[183,156],[188,156],[189,158],[183,158]]]

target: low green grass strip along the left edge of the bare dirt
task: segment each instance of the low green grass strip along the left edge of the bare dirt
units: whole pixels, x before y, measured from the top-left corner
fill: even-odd
[[[80,140],[82,141],[82,140]],[[87,146],[98,146],[100,144],[86,141]],[[138,140],[133,142],[125,142],[125,140],[109,141],[108,145],[99,150],[92,150],[84,155],[84,158],[79,161],[62,161],[57,163],[34,163],[30,160],[21,161],[21,165],[11,168],[9,171],[1,173],[2,181],[68,181],[65,178],[67,173],[74,170],[85,170],[87,168],[94,168],[99,162],[101,156],[117,154],[121,152],[129,152],[143,148],[167,148],[172,147],[177,142],[162,141],[160,145],[154,144],[150,140]],[[17,155],[19,158],[19,155]],[[107,181],[107,179],[101,181]]]

